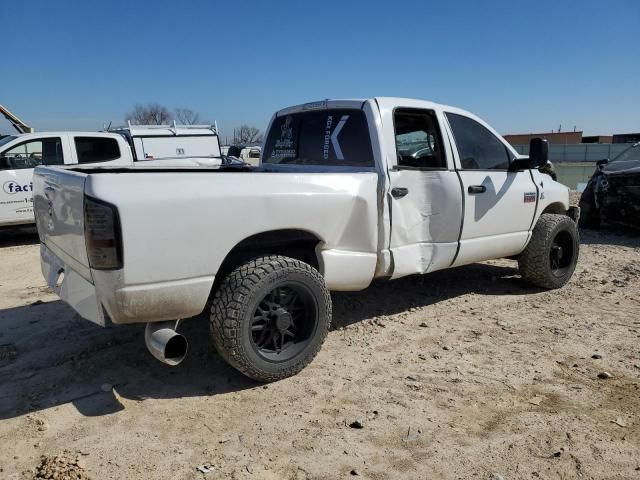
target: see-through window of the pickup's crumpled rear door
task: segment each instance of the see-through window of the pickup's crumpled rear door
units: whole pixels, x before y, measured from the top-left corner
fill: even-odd
[[[447,167],[438,120],[433,110],[399,108],[394,112],[393,123],[398,166],[425,169]]]

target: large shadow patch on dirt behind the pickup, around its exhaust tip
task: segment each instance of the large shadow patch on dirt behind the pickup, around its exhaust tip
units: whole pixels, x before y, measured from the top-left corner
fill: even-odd
[[[0,419],[73,403],[85,416],[123,410],[120,398],[207,396],[257,385],[213,351],[206,319],[185,322],[189,355],[155,360],[144,325],[102,328],[61,301],[0,310]]]

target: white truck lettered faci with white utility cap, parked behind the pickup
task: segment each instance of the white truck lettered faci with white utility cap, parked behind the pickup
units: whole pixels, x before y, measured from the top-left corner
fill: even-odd
[[[0,226],[34,222],[32,177],[38,165],[221,164],[218,135],[212,126],[129,125],[112,132],[40,132],[1,138]]]

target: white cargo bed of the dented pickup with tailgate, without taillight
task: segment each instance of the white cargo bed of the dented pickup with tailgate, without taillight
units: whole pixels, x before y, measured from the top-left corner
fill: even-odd
[[[296,230],[317,239],[321,269],[333,289],[366,287],[377,262],[377,174],[263,173],[38,167],[40,238],[62,263],[52,271],[71,270],[90,285],[108,285],[102,291],[113,295],[96,301],[115,322],[191,316],[204,308],[218,268],[239,242],[259,232]],[[89,264],[87,198],[117,209],[121,269]],[[354,262],[346,273],[336,270],[345,258]]]

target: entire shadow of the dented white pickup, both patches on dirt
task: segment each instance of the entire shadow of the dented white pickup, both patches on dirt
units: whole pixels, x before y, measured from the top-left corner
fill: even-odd
[[[514,267],[471,265],[336,293],[334,328],[458,295],[536,292]],[[0,419],[72,403],[85,416],[116,413],[122,399],[211,396],[258,384],[228,366],[212,348],[206,318],[185,322],[189,354],[177,367],[155,360],[144,325],[102,328],[61,301],[0,310]]]

